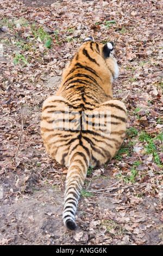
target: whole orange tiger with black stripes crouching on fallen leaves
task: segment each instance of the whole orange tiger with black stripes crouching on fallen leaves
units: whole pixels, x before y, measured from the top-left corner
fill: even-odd
[[[62,219],[77,229],[75,215],[89,167],[109,162],[126,136],[127,109],[113,99],[119,68],[112,41],[87,36],[62,73],[55,95],[42,105],[41,137],[47,153],[67,167]]]

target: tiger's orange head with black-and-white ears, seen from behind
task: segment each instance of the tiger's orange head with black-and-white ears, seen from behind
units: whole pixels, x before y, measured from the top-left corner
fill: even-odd
[[[67,76],[71,76],[72,70],[76,70],[76,74],[85,70],[92,70],[92,74],[100,77],[99,83],[103,87],[111,86],[113,80],[118,77],[119,68],[117,61],[114,58],[112,51],[114,49],[113,42],[107,42],[103,45],[95,42],[92,36],[88,36],[83,44],[79,47],[76,54],[72,57],[70,63],[67,63],[62,74],[62,81],[66,80]],[[111,89],[111,87],[109,87]]]

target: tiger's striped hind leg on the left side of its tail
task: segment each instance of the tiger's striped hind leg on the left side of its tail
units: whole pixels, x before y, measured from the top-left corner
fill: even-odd
[[[42,106],[41,136],[49,155],[68,166],[68,151],[77,134],[69,129],[71,103],[61,96],[48,97]]]

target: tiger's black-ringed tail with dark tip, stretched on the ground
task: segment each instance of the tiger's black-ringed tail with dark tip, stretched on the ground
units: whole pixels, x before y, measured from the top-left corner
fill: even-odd
[[[89,159],[84,154],[84,150],[83,152],[76,151],[71,157],[67,171],[64,212],[62,215],[64,224],[70,230],[77,228],[75,215],[88,167]]]

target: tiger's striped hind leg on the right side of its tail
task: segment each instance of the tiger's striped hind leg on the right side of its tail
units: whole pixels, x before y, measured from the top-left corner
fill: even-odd
[[[93,113],[98,113],[95,120],[92,138],[94,147],[92,148],[92,166],[100,166],[110,161],[118,152],[126,134],[127,110],[123,102],[110,100],[103,102]],[[97,124],[99,121],[99,127]]]

